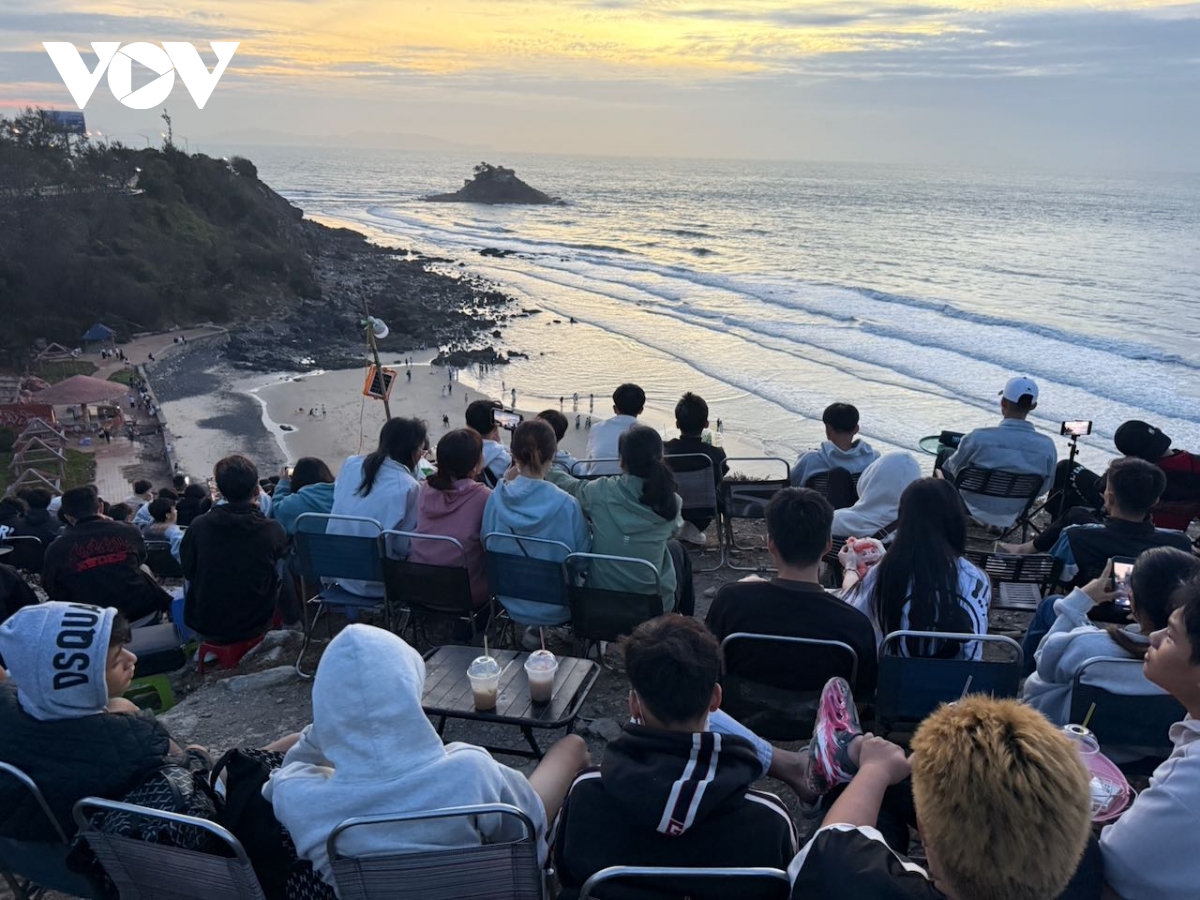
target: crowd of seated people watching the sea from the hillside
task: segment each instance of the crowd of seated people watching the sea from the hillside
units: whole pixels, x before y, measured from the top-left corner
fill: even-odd
[[[0,565],[0,760],[29,773],[70,828],[79,797],[120,798],[166,761],[203,756],[122,698],[136,665],[128,644],[179,599],[179,624],[212,644],[299,628],[292,544],[300,517],[320,514],[330,516],[329,533],[401,532],[390,554],[463,565],[476,624],[492,611],[487,551],[648,563],[595,559],[587,583],[656,593],[662,613],[620,642],[629,724],[602,762],[594,766],[571,736],[528,776],[480,748],[444,745],[421,710],[420,654],[385,629],[344,628],[317,668],[312,725],[269,748],[283,756],[263,787],[299,859],[331,892],[326,839],[342,820],[508,803],[533,822],[539,856],[553,863],[568,899],[611,865],[781,869],[798,900],[1074,900],[1099,898],[1105,886],[1127,900],[1194,898],[1200,558],[1181,527],[1190,522],[1182,504],[1200,491],[1188,493],[1184,475],[1194,469],[1180,460],[1190,455],[1171,451],[1152,426],[1127,422],[1117,431],[1123,456],[1090,478],[1057,464],[1054,443],[1033,431],[1027,419],[1037,400],[1032,380],[1010,379],[1001,424],[948,439],[932,476],[907,452],[877,452],[858,437],[858,410],[830,404],[826,442],[800,455],[791,485],[763,510],[775,576],[725,584],[704,622],[694,617],[691,554],[679,539],[703,545],[724,499],[715,510],[685,509],[677,476],[710,470],[720,486],[731,475],[724,451],[703,439],[708,406],[691,392],[676,407],[679,437],[664,442],[638,422],[644,391],[620,385],[613,416],[590,430],[582,461],[558,446],[569,427],[560,410],[512,422],[500,403],[476,400],[464,427],[436,446],[424,421],[389,420],[376,450],[349,457],[336,475],[305,457],[264,479],[233,455],[216,464],[212,491],[180,476],[157,492],[139,481],[112,505],[94,487],[60,498],[25,492],[0,502],[0,538],[41,539],[42,558],[24,568],[41,571],[48,600],[38,602],[14,569]],[[932,713],[902,746],[864,732],[858,716],[878,684],[884,636],[985,635],[992,583],[967,558],[968,526],[1003,530],[1028,508],[960,492],[955,479],[971,467],[1042,479],[1055,522],[1032,542],[1002,550],[1060,560],[1063,592],[1030,623],[1019,700],[968,694]],[[1158,515],[1164,497],[1175,516],[1168,522]],[[164,542],[179,562],[178,596],[144,568],[146,541]],[[1118,584],[1112,560],[1123,557],[1135,563]],[[364,598],[385,592],[370,581],[340,587]],[[541,646],[545,629],[570,626],[566,607],[496,600],[524,626],[520,640],[529,649]],[[828,643],[722,650],[724,638],[745,632]],[[857,665],[847,668],[834,644],[848,646]],[[922,637],[895,652],[979,660],[983,644]],[[1091,822],[1090,772],[1062,731],[1075,677],[1096,656],[1142,660],[1104,683],[1112,692],[1165,692],[1187,710],[1171,728],[1170,758],[1100,832]],[[728,673],[818,696],[809,745],[773,746],[732,718],[722,708]],[[1162,743],[1147,736],[1147,744]],[[1136,745],[1104,751],[1117,761],[1146,756]],[[818,820],[803,846],[787,805],[754,787],[764,775]],[[0,780],[0,835],[52,836],[34,834],[35,821],[28,800]],[[907,858],[916,830],[924,865]],[[498,818],[433,820],[402,833],[364,829],[347,852],[420,853],[510,836]],[[676,887],[709,895],[695,883]],[[756,890],[737,895],[773,895]]]

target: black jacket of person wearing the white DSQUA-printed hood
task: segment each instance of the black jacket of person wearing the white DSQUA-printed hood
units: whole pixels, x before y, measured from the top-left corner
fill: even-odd
[[[34,779],[67,836],[74,833],[76,800],[121,799],[167,762],[169,745],[170,736],[149,714],[38,721],[20,708],[16,684],[0,683],[0,761]],[[0,835],[56,839],[29,792],[8,776],[0,778]]]

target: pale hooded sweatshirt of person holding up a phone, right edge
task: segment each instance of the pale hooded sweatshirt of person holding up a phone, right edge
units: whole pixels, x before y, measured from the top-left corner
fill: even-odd
[[[1092,598],[1079,588],[1055,601],[1054,611],[1058,618],[1038,644],[1034,654],[1037,671],[1025,679],[1021,698],[1055,725],[1066,725],[1070,720],[1070,694],[1084,662],[1094,656],[1129,656],[1109,636],[1108,630],[1097,628],[1087,618],[1092,605]],[[1150,646],[1136,625],[1126,628],[1126,634]],[[1112,694],[1163,694],[1162,688],[1146,679],[1141,666],[1096,666],[1088,670],[1087,678],[1090,684]],[[1111,750],[1112,748],[1104,748],[1110,755]]]

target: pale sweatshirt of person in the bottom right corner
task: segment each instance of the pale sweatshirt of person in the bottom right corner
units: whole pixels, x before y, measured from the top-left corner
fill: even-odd
[[[1124,900],[1195,900],[1200,893],[1200,721],[1171,726],[1175,750],[1150,787],[1100,833],[1104,880]]]

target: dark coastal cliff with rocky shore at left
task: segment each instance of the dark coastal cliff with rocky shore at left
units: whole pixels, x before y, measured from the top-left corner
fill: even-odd
[[[0,116],[0,365],[20,367],[40,338],[76,347],[96,322],[120,341],[211,322],[241,367],[334,368],[361,362],[364,299],[395,353],[468,350],[510,316],[494,286],[436,270],[450,260],[306,220],[250,160],[169,137],[100,145],[49,122]]]

